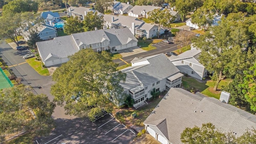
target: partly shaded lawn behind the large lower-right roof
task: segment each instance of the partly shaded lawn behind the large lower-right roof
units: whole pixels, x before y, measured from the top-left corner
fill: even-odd
[[[215,81],[212,81],[212,80],[206,81],[205,80],[203,82],[200,80],[196,80],[195,78],[192,78],[192,77],[186,77],[186,76],[182,77],[182,86],[185,90],[190,91],[191,88],[194,88],[194,90],[201,92],[202,94],[205,94],[206,96],[214,97],[217,99],[220,98],[221,87],[228,85],[229,82],[230,82],[230,80],[220,81],[218,90],[214,91],[213,88],[214,88]]]

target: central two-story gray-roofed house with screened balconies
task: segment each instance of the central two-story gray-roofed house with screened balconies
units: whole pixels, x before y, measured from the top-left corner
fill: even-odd
[[[156,92],[180,87],[183,74],[166,58],[164,54],[134,58],[132,66],[122,70],[126,74],[126,81],[120,85],[124,93],[134,99],[134,107],[146,104],[146,99],[151,98],[153,88]]]

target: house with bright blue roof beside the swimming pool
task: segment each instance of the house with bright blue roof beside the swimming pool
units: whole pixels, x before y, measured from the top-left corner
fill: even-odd
[[[59,22],[60,14],[58,12],[42,12],[41,17],[44,19],[45,24],[50,25],[51,22]]]

